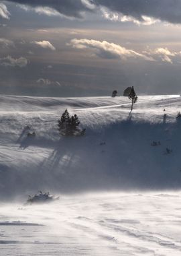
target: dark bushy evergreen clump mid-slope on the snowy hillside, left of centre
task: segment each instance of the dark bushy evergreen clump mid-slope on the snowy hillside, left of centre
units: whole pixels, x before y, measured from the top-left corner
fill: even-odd
[[[61,135],[84,135],[85,129],[80,129],[78,126],[80,121],[77,115],[70,117],[68,110],[66,109],[58,120],[58,131]]]

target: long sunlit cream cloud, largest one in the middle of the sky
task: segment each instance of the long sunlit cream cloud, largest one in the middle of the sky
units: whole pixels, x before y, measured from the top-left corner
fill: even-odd
[[[151,56],[137,53],[136,51],[126,49],[119,44],[113,42],[88,40],[88,39],[72,39],[70,46],[76,49],[90,49],[95,55],[103,59],[143,59],[146,61],[154,61]]]

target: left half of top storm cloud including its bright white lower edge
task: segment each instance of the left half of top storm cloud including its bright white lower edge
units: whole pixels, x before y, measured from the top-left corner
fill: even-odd
[[[38,13],[46,15],[64,15],[70,18],[82,18],[84,11],[93,11],[94,5],[89,0],[7,0],[33,7]]]

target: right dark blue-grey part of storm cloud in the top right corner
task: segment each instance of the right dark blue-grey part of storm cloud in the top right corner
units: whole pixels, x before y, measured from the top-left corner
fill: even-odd
[[[140,21],[143,21],[142,16],[145,15],[170,23],[181,23],[180,0],[94,0],[94,2]]]

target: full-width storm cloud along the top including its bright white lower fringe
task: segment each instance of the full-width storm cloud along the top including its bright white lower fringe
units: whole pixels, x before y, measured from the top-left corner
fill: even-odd
[[[64,15],[82,18],[85,11],[97,11],[109,20],[154,24],[159,20],[172,24],[181,23],[180,0],[7,0],[34,8],[46,15]],[[38,9],[37,9],[38,8]],[[103,11],[105,8],[105,11]],[[5,13],[5,11],[3,11]],[[9,14],[6,13],[6,17]]]

